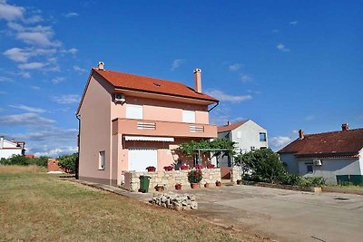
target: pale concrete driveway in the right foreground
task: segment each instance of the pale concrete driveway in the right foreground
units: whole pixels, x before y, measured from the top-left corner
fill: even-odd
[[[191,213],[279,241],[363,241],[363,196],[252,186],[193,189]]]

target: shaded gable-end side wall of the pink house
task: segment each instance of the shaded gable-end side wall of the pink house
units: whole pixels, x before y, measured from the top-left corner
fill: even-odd
[[[97,73],[91,76],[79,111],[81,115],[80,179],[110,184],[112,171],[111,106],[112,87]],[[105,168],[99,170],[99,152],[105,151]],[[117,170],[116,168],[113,168]],[[116,171],[117,172],[117,171]],[[113,173],[114,174],[114,173]],[[116,177],[112,178],[116,184]]]

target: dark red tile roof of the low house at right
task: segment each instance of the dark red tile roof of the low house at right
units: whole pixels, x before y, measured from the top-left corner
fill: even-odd
[[[297,157],[329,157],[357,155],[363,149],[363,129],[306,134],[278,153],[294,153]]]

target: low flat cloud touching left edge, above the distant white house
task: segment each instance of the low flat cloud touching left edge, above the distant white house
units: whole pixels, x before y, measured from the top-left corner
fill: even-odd
[[[31,125],[39,127],[42,125],[50,125],[54,122],[54,120],[46,119],[42,116],[39,116],[39,114],[33,112],[0,116],[0,124],[8,126]]]

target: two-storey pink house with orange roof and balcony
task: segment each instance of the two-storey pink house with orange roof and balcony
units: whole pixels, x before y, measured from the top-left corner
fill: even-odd
[[[79,179],[117,185],[123,171],[187,163],[175,149],[189,140],[217,137],[209,105],[218,100],[181,82],[93,68],[80,102]],[[204,160],[207,158],[204,157]]]

